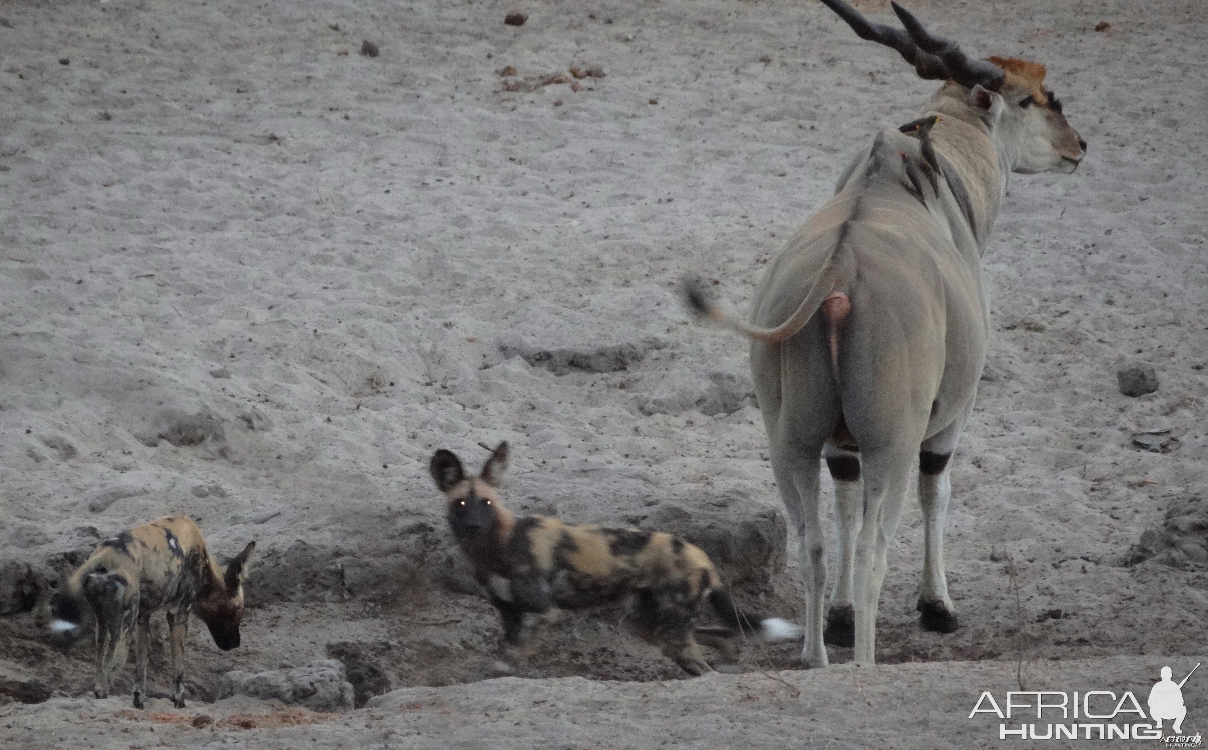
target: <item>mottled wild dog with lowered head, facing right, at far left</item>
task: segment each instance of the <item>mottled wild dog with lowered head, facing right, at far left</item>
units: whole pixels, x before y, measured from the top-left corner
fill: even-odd
[[[184,516],[165,516],[106,539],[51,600],[53,636],[75,643],[88,607],[97,617],[97,674],[93,692],[109,686],[126,664],[127,638],[138,622],[134,708],[143,708],[147,685],[151,612],[163,607],[172,638],[172,702],[185,705],[185,636],[188,610],[210,628],[219,649],[239,645],[245,565],[250,542],[223,570],[205,551],[201,529]]]

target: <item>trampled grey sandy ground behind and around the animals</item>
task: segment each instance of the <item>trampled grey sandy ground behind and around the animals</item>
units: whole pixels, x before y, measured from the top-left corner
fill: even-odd
[[[1090,152],[1016,176],[987,254],[995,333],[947,537],[964,627],[916,624],[908,505],[878,661],[1014,658],[1007,556],[1028,658],[1201,653],[1203,569],[1117,563],[1208,473],[1208,92],[1187,75],[1208,10],[911,7],[968,50],[1047,63]],[[50,583],[98,536],[180,511],[220,553],[260,550],[245,647],[194,628],[191,700],[331,641],[395,687],[488,676],[498,626],[453,566],[436,447],[477,463],[510,441],[517,510],[778,513],[745,345],[692,325],[675,285],[699,272],[742,307],[849,155],[934,85],[813,2],[534,2],[521,28],[511,8],[0,6],[0,658],[82,694],[91,649],[41,640]],[[1117,391],[1128,359],[1157,393]],[[180,414],[209,438],[157,440]],[[1140,430],[1174,440],[1140,450]],[[739,600],[798,615],[792,565],[769,572]],[[678,678],[615,615],[562,628],[530,676]]]

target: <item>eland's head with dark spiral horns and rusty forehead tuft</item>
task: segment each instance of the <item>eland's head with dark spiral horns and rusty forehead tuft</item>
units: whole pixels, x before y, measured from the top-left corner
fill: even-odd
[[[1010,159],[1012,171],[1078,169],[1086,141],[1065,121],[1061,101],[1045,88],[1045,66],[1018,58],[970,59],[951,40],[928,31],[913,14],[890,2],[905,31],[872,23],[843,0],[821,0],[860,39],[893,47],[919,77],[947,81],[936,93],[945,111],[952,100],[968,106],[968,120],[980,120]]]

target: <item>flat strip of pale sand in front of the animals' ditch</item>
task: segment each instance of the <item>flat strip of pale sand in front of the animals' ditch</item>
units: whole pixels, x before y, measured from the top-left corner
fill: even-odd
[[[1111,714],[1116,700],[1132,692],[1145,705],[1157,670],[1167,659],[1111,657],[1093,662],[1046,662],[1030,668],[1026,687],[1091,698],[1091,710]],[[1179,668],[1186,658],[1173,659]],[[1190,664],[1187,664],[1190,667]],[[1185,668],[1184,668],[1185,669]],[[1152,675],[1152,676],[1151,676]],[[1194,680],[1194,678],[1192,678]],[[1203,681],[1184,688],[1189,705],[1204,705]],[[116,698],[54,698],[37,705],[0,709],[0,742],[39,746],[53,739],[60,750],[127,750],[128,748],[1084,748],[1079,739],[1020,743],[1000,739],[1000,726],[1018,731],[1032,725],[1044,736],[1052,723],[1069,727],[1046,709],[1016,709],[1005,717],[1006,691],[1018,690],[1015,665],[1003,662],[943,664],[852,664],[819,671],[785,673],[782,679],[753,673],[714,674],[673,682],[611,682],[583,678],[522,680],[504,678],[454,687],[411,687],[374,698],[368,708],[343,715],[315,715],[249,698],[231,698],[188,711],[173,711],[167,700],[134,711]],[[1004,719],[975,708],[989,691]],[[1081,699],[1081,698],[1080,698]],[[1016,704],[1035,698],[1016,697]],[[1030,703],[1029,703],[1030,702]],[[1059,703],[1056,696],[1046,704]],[[162,704],[162,705],[159,705]],[[1110,705],[1109,705],[1110,704]],[[1071,704],[1070,704],[1071,705]],[[1129,705],[1129,704],[1126,704]],[[1136,723],[1120,714],[1117,727]],[[194,722],[198,726],[193,726]],[[301,726],[286,726],[297,722]],[[301,723],[307,722],[307,723]],[[1093,723],[1082,716],[1081,722]],[[1192,719],[1183,732],[1194,734]],[[1203,726],[1200,719],[1197,727]],[[1167,734],[1171,723],[1165,722]],[[1056,729],[1053,731],[1056,733]],[[1094,739],[1097,729],[1090,729]],[[1107,729],[1104,729],[1107,732]],[[1154,742],[1120,742],[1119,746],[1165,746]]]

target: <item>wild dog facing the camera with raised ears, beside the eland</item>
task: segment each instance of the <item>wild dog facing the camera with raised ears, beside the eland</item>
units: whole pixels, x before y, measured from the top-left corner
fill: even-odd
[[[495,493],[506,469],[507,443],[499,443],[477,477],[466,476],[449,450],[437,450],[429,465],[448,498],[453,535],[503,617],[510,659],[523,657],[534,635],[557,621],[557,607],[632,594],[631,624],[692,675],[712,671],[697,636],[730,650],[737,630],[766,640],[800,634],[778,617],[739,612],[708,556],[670,534],[515,518]],[[726,628],[695,628],[705,600]]]

